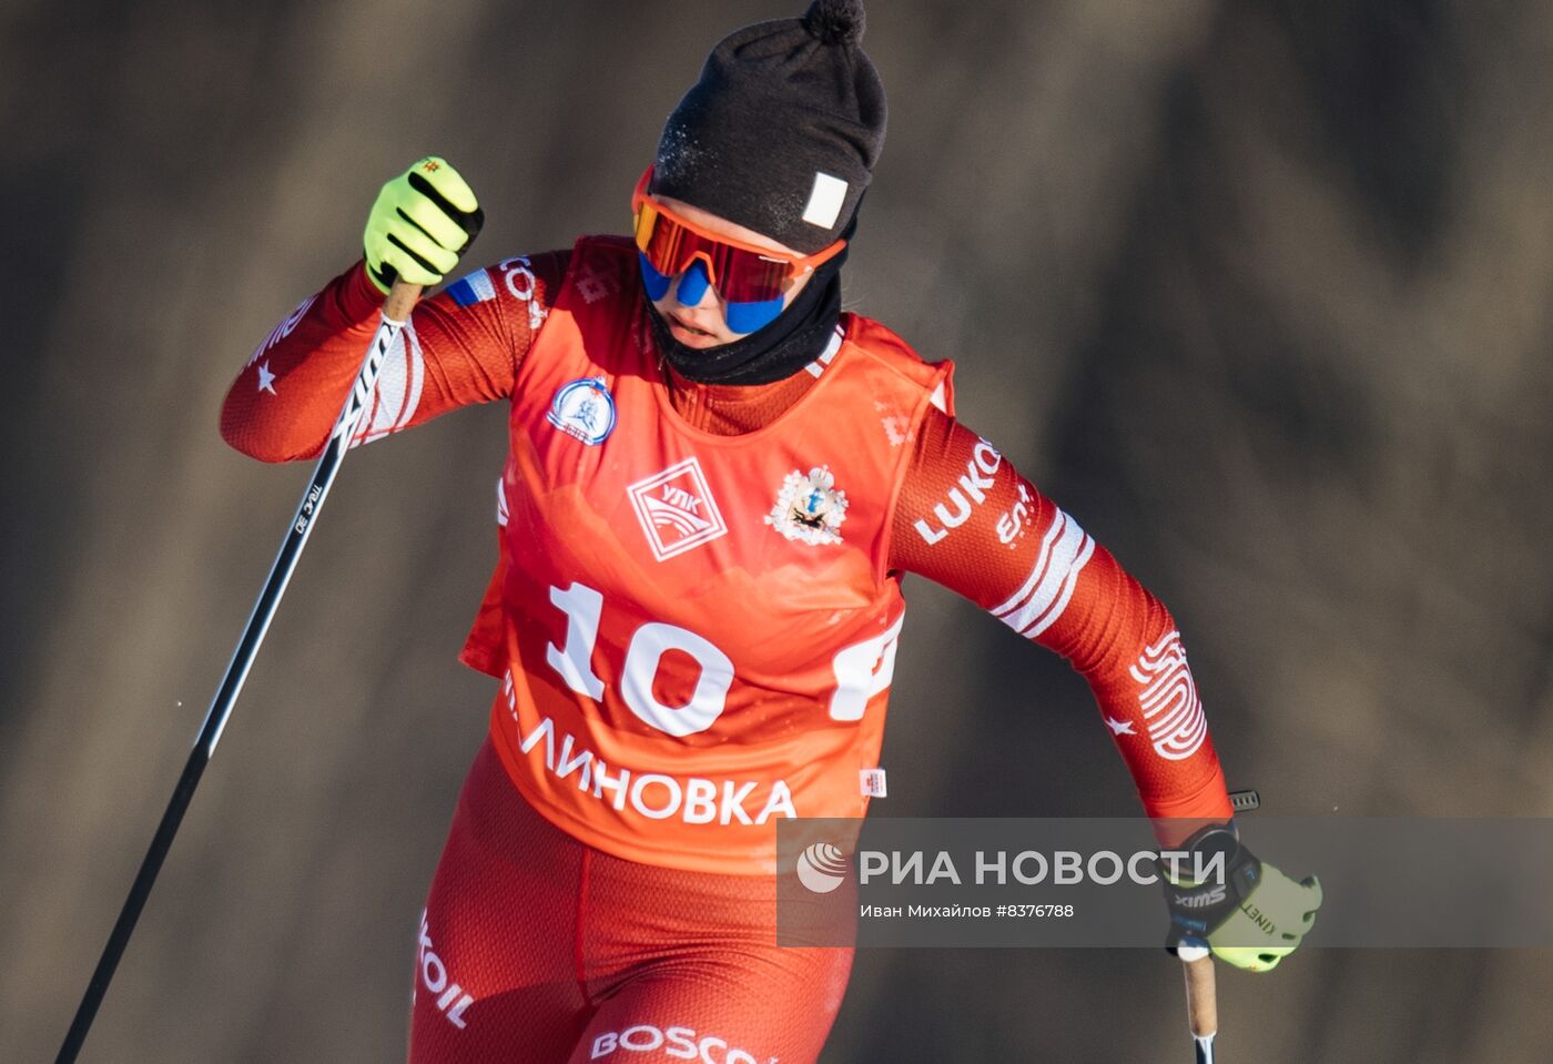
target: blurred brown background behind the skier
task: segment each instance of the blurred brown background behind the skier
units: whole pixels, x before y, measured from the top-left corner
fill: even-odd
[[[0,8],[0,1058],[53,1058],[306,482],[216,435],[252,348],[422,152],[481,263],[621,231],[705,51],[800,8]],[[848,303],[1169,603],[1232,784],[1553,815],[1553,6],[871,8]],[[401,1058],[502,449],[481,409],[345,464],[85,1059]],[[1135,809],[1061,660],[909,595],[877,812]],[[1309,951],[1221,977],[1221,1052],[1547,1061],[1550,991],[1547,951]],[[881,951],[825,1061],[1183,1042],[1154,951]]]

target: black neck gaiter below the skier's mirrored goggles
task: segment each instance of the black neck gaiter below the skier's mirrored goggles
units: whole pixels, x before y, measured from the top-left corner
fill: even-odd
[[[686,381],[697,384],[772,384],[784,381],[814,362],[831,342],[836,322],[842,315],[843,247],[836,258],[815,270],[814,280],[792,306],[770,325],[731,343],[714,348],[690,348],[669,336],[669,326],[651,303],[648,322],[652,340],[663,359]],[[646,301],[646,294],[643,294]]]

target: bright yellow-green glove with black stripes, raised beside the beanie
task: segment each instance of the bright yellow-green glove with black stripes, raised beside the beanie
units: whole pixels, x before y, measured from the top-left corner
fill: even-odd
[[[485,211],[447,160],[427,155],[377,193],[367,216],[367,275],[382,292],[394,278],[432,286],[474,244]]]

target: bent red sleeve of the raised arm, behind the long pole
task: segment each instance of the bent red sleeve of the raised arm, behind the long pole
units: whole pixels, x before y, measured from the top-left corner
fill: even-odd
[[[509,396],[568,256],[509,258],[422,300],[384,359],[353,446]],[[264,461],[318,455],[367,356],[382,303],[357,263],[292,311],[227,391],[221,410],[227,443]]]

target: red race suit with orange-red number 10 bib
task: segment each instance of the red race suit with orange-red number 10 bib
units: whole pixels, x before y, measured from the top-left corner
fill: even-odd
[[[907,572],[1072,662],[1148,815],[1230,817],[1171,615],[954,418],[949,363],[843,314],[787,381],[699,385],[654,349],[637,270],[629,241],[582,238],[450,284],[356,435],[511,410],[500,556],[461,655],[500,687],[421,934],[416,1061],[502,1059],[519,1030],[533,1059],[812,1059],[851,954],[770,946],[761,892],[781,819],[860,817],[885,791]],[[357,264],[283,320],[227,396],[227,441],[317,455],[380,303]],[[537,890],[516,839],[568,885]],[[744,899],[736,935],[683,921],[707,898]],[[547,934],[503,952],[514,904]],[[688,941],[707,971],[676,980]]]

